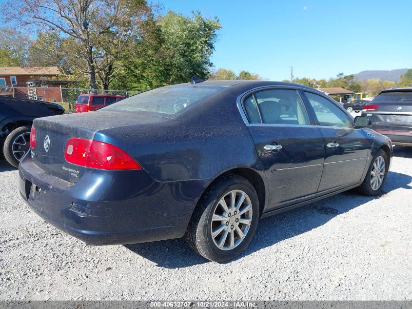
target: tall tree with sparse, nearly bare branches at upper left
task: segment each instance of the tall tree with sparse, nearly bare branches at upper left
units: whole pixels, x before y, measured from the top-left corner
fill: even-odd
[[[52,31],[73,40],[72,54],[89,86],[107,89],[122,53],[141,34],[152,12],[145,0],[9,0],[0,12],[6,22]]]

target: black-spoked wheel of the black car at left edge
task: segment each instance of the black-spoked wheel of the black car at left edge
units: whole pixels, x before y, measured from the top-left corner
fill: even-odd
[[[3,145],[3,155],[8,163],[19,167],[21,158],[30,149],[31,126],[20,126],[7,135]]]

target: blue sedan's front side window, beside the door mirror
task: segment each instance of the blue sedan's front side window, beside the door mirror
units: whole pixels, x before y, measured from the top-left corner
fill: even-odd
[[[311,92],[305,92],[305,94],[314,109],[319,125],[343,128],[352,127],[345,112],[334,103]]]

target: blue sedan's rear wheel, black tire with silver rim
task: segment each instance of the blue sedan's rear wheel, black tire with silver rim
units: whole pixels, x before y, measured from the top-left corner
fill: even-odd
[[[258,218],[259,202],[253,185],[240,176],[224,176],[200,199],[185,238],[210,261],[232,260],[251,242]]]

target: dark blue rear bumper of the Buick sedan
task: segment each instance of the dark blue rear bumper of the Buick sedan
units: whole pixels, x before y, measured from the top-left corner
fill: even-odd
[[[183,236],[203,181],[159,183],[144,170],[86,173],[76,184],[46,174],[27,155],[20,195],[45,221],[91,245]]]

